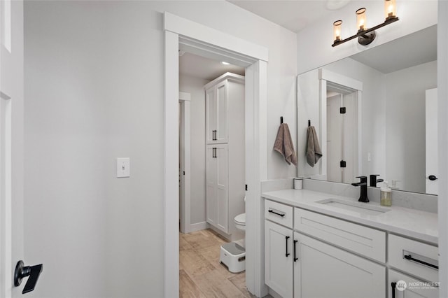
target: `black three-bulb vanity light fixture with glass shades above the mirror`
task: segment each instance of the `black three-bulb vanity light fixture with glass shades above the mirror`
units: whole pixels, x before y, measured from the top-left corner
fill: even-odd
[[[398,21],[398,17],[395,15],[395,0],[384,0],[384,13],[386,15],[386,20],[383,23],[378,24],[375,27],[367,29],[367,15],[365,8],[359,8],[356,10],[356,29],[358,32],[345,39],[341,39],[342,31],[342,20],[337,20],[333,23],[333,36],[335,40],[333,41],[332,47],[345,43],[346,41],[351,41],[353,38],[358,37],[358,43],[361,45],[368,45],[374,41],[376,34],[375,30],[384,27],[388,24]]]

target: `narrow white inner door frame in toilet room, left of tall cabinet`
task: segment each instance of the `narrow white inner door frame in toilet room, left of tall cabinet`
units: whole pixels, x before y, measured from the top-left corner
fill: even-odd
[[[179,104],[181,115],[181,129],[179,132],[179,156],[181,165],[181,188],[182,194],[179,201],[181,212],[181,232],[191,232],[191,173],[190,173],[190,101],[191,94],[187,92],[179,92]]]

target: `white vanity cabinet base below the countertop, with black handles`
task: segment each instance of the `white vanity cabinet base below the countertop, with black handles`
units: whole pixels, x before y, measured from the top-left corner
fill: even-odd
[[[265,199],[265,283],[283,298],[438,297],[437,253],[386,229]],[[400,281],[407,289],[393,294]]]

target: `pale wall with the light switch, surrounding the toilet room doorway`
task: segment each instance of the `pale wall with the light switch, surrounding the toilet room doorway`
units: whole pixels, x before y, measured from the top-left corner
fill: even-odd
[[[272,22],[227,1],[27,1],[25,254],[45,265],[29,297],[164,296],[165,10],[267,47],[268,148],[281,115],[296,132],[296,36]],[[274,154],[267,169],[295,176]]]

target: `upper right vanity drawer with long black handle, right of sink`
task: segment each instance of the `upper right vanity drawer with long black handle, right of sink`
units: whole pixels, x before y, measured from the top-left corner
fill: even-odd
[[[389,234],[388,256],[388,263],[391,267],[406,271],[427,281],[439,281],[437,246]]]

